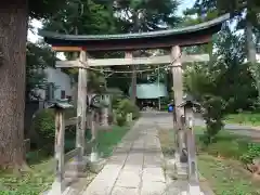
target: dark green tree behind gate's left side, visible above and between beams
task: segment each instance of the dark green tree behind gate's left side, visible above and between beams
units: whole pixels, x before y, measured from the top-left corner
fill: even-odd
[[[66,0],[65,5],[57,10],[56,14],[43,21],[43,29],[60,34],[96,35],[113,34],[113,13],[104,4],[93,0]],[[89,53],[91,57],[104,55],[104,53]],[[78,57],[78,53],[66,52],[67,58]],[[99,72],[88,70],[88,91],[102,92],[105,79],[102,69]],[[70,75],[77,80],[78,69],[70,69]]]

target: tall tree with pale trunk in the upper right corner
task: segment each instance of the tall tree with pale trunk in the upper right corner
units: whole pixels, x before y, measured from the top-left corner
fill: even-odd
[[[190,14],[204,15],[205,13],[231,13],[232,21],[236,21],[236,29],[244,29],[247,60],[250,63],[251,74],[256,80],[260,99],[260,67],[256,62],[256,41],[253,34],[259,30],[260,1],[258,0],[196,0]]]

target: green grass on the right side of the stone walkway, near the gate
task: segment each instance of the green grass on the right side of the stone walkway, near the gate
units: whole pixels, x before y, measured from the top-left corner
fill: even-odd
[[[207,183],[217,195],[257,195],[260,194],[259,181],[253,181],[239,157],[247,153],[249,138],[235,135],[222,130],[216,142],[205,146],[202,142],[203,128],[196,128],[196,141],[199,151],[198,168]],[[162,153],[172,147],[171,131],[159,133]],[[171,139],[169,139],[171,138]],[[166,154],[169,155],[169,154]]]

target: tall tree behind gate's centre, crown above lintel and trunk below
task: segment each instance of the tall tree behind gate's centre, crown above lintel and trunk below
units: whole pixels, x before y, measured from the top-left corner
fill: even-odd
[[[176,16],[176,0],[116,0],[114,11],[121,32],[155,31],[173,27],[179,23]],[[135,55],[141,55],[140,52]],[[131,100],[136,99],[136,67],[132,66]]]

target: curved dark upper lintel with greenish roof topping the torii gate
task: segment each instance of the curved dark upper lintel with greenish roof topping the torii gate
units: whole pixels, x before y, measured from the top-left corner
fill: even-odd
[[[44,41],[57,50],[78,51],[126,51],[140,49],[164,49],[172,46],[187,47],[208,43],[213,34],[221,29],[222,24],[230,18],[224,14],[202,24],[141,34],[119,35],[61,35],[39,30]]]

